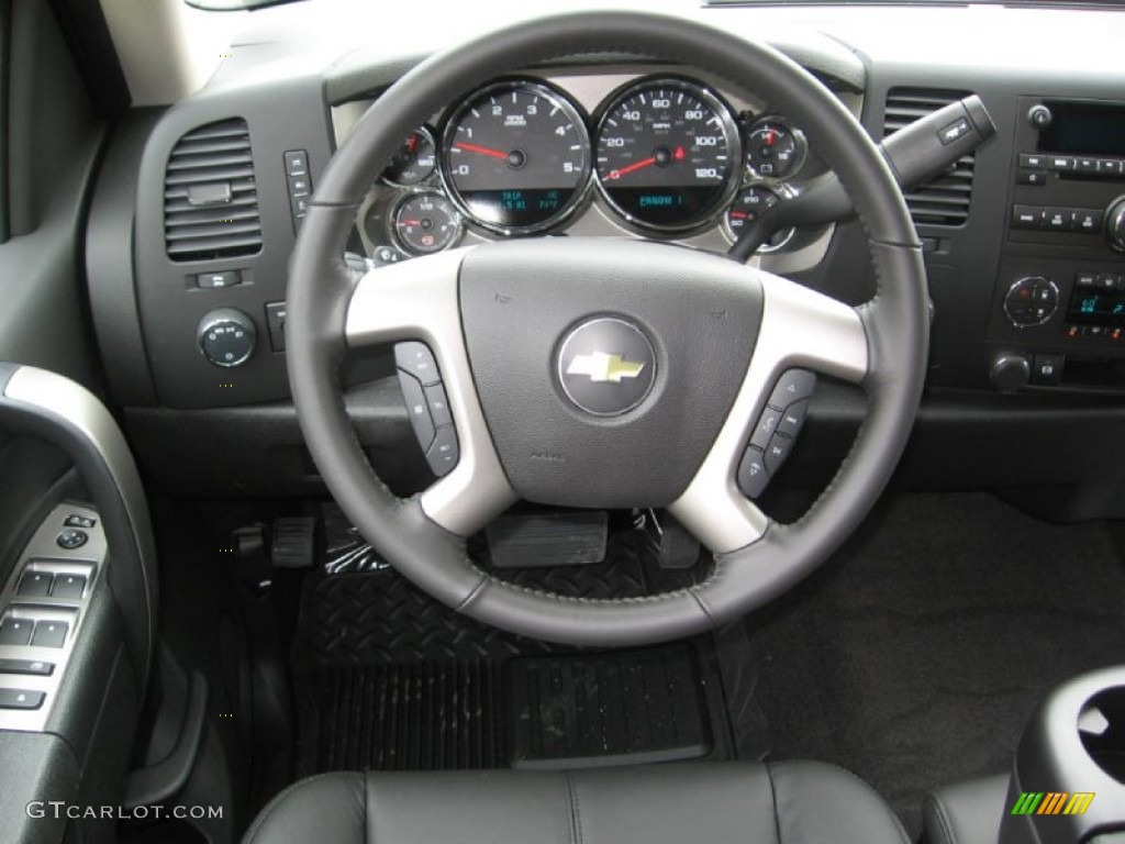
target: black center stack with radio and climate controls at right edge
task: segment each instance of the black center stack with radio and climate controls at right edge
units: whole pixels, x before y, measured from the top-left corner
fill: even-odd
[[[1022,97],[988,336],[1002,390],[1125,390],[1125,102]]]

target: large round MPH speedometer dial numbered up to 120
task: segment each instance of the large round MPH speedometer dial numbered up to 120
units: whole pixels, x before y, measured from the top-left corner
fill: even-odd
[[[631,84],[597,124],[597,183],[626,219],[682,231],[710,219],[738,187],[741,149],[730,110],[670,79]]]

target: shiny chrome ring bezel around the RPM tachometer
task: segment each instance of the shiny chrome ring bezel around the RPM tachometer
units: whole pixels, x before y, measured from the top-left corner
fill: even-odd
[[[493,91],[516,90],[530,91],[533,95],[550,100],[566,113],[566,116],[574,124],[575,129],[582,135],[582,137],[576,138],[576,143],[582,144],[584,167],[582,173],[575,180],[574,194],[570,196],[570,199],[551,216],[526,226],[503,226],[480,219],[469,208],[468,203],[461,198],[461,191],[449,172],[449,150],[450,142],[457,133],[457,124],[467,111],[470,111],[475,105]],[[461,216],[485,231],[510,236],[513,234],[536,234],[544,232],[548,228],[554,228],[569,219],[575,210],[578,209],[590,192],[590,182],[594,178],[594,151],[590,142],[590,129],[586,128],[586,118],[568,93],[548,83],[547,80],[524,78],[487,84],[458,102],[449,113],[449,117],[446,118],[446,125],[441,133],[441,149],[438,151],[438,176],[441,179],[441,186],[447,196],[453,203],[453,206],[461,212]]]

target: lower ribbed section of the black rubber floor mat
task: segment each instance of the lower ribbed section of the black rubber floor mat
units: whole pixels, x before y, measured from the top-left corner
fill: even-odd
[[[298,774],[718,757],[696,647],[317,666],[298,675]]]

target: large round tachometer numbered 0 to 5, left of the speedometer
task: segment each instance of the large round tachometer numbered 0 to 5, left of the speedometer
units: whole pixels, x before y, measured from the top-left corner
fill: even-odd
[[[472,222],[529,234],[565,218],[590,181],[590,135],[577,108],[538,82],[474,95],[442,134],[442,178]]]

